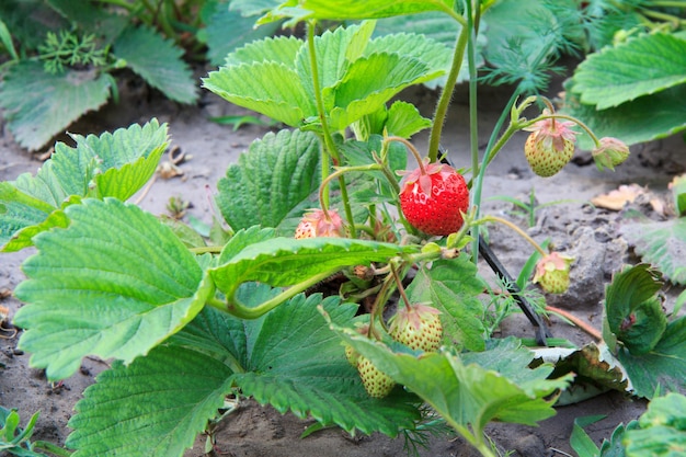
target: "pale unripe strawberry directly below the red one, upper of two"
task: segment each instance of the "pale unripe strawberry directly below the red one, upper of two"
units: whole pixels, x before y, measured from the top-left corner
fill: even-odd
[[[427,305],[405,306],[391,318],[391,338],[405,346],[424,352],[436,352],[443,339],[441,311]]]

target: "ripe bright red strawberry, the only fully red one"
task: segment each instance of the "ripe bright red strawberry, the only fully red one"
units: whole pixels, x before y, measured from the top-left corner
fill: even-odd
[[[465,178],[450,165],[426,163],[401,182],[400,209],[412,227],[427,235],[447,236],[462,227],[469,208]]]

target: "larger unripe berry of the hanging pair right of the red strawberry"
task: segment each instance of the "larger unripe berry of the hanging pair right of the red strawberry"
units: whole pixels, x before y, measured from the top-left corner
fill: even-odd
[[[572,160],[576,133],[570,121],[542,119],[530,127],[524,144],[524,156],[534,173],[548,178],[557,174]]]

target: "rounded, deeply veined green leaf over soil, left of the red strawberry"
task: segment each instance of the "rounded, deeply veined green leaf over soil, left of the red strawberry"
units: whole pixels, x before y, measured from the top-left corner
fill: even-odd
[[[224,218],[233,230],[288,226],[290,215],[299,217],[312,206],[309,196],[320,183],[319,155],[319,140],[311,133],[282,130],[253,141],[217,185]]]

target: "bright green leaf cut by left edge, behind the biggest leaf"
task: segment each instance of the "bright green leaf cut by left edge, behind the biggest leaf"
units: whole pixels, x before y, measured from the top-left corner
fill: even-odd
[[[100,137],[73,135],[76,148],[62,142],[35,176],[21,174],[0,183],[0,243],[3,251],[32,245],[52,227],[66,227],[59,212],[77,197],[129,198],[152,176],[167,148],[167,125],[157,119]]]

